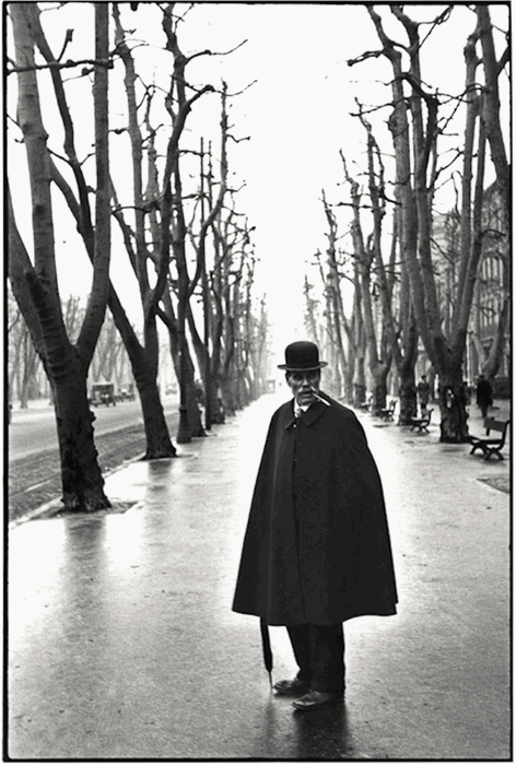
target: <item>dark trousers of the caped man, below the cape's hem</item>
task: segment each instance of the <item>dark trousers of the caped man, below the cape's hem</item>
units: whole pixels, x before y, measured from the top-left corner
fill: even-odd
[[[288,627],[297,678],[314,691],[344,690],[344,632],[342,624],[302,624]]]

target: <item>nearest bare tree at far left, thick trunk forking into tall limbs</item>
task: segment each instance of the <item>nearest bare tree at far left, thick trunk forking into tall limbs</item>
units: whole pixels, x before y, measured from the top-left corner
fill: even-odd
[[[95,4],[96,237],[92,291],[74,344],[67,336],[57,283],[50,157],[34,57],[39,11],[35,3],[12,3],[9,11],[15,47],[19,123],[31,179],[34,249],[33,264],[9,199],[9,276],[52,387],[61,457],[62,502],[71,510],[96,510],[108,507],[109,502],[104,494],[104,480],[93,443],[86,376],[104,320],[108,293],[108,4]]]

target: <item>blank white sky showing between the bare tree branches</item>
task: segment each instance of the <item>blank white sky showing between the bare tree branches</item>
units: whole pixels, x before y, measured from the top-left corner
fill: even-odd
[[[40,3],[42,8],[45,5],[51,7],[50,3]],[[406,4],[406,12],[418,20],[431,20],[443,9],[443,5]],[[377,10],[387,20],[387,32],[395,39],[403,39],[403,33],[397,22],[391,21],[388,8],[377,7]],[[493,21],[506,28],[505,7],[491,10]],[[142,60],[145,60],[146,76],[149,80],[154,76],[166,87],[172,57],[162,50],[164,35],[160,19],[161,14],[152,3],[140,3],[137,12],[131,12],[128,3],[122,8],[125,27],[134,30],[134,38],[150,38],[153,43],[151,49],[139,49]],[[429,39],[423,55],[423,79],[427,87],[438,89],[441,93],[461,91],[462,48],[474,21],[473,13],[467,8],[455,7],[450,21]],[[68,3],[59,12],[45,14],[44,23],[55,52],[60,50],[64,30],[73,27],[73,43],[66,58],[93,57],[91,3]],[[304,273],[314,252],[326,246],[321,189],[325,189],[329,202],[348,199],[348,191],[341,186],[339,150],[342,149],[352,172],[363,167],[364,131],[356,118],[350,116],[356,108],[354,99],[357,97],[365,105],[388,102],[390,64],[382,58],[353,68],[347,64],[348,59],[379,47],[373,22],[361,3],[203,2],[189,12],[179,31],[179,45],[186,55],[206,48],[228,50],[244,39],[247,43],[231,56],[197,59],[187,69],[187,74],[192,84],[211,83],[215,87],[224,78],[230,93],[257,80],[243,95],[230,102],[234,134],[238,138],[250,136],[250,141],[230,145],[230,169],[234,173],[236,187],[246,184],[238,195],[237,207],[247,214],[249,225],[256,226],[254,242],[260,259],[258,286],[267,292],[277,344],[282,349],[294,337],[304,336]],[[121,72],[121,63],[117,64],[116,72]],[[15,114],[12,107],[15,87],[11,87],[11,78],[8,107]],[[507,86],[505,75],[503,78]],[[82,140],[85,154],[93,134],[90,131],[93,126],[90,85],[86,79],[74,80],[68,92],[75,114],[78,139]],[[124,101],[117,102],[115,87],[112,87],[110,98],[112,127],[121,127],[125,125]],[[187,122],[187,142],[191,140],[192,149],[198,148],[200,134],[208,138],[210,131],[214,144],[219,145],[219,104],[216,95],[207,95],[195,105]],[[50,133],[49,143],[55,151],[62,152],[60,134],[55,132],[58,119],[50,97],[44,99],[43,108]],[[372,116],[371,121],[378,140],[385,140],[386,151],[390,151],[385,126],[387,116],[388,110],[384,109]],[[461,126],[459,120],[456,132],[460,132]],[[117,161],[125,140],[127,138],[114,137],[112,144],[114,175],[121,188],[120,196],[124,188],[130,189],[128,154]],[[448,148],[455,145],[455,140],[449,139]],[[23,231],[30,233],[24,205],[23,155],[20,146],[11,149],[11,145],[9,163],[10,176],[14,179],[16,213],[25,223]],[[445,141],[441,148],[444,153]],[[352,163],[357,164],[353,166]],[[93,172],[91,160],[89,166]],[[452,201],[448,186],[448,191],[443,191],[437,202],[446,209]],[[129,198],[127,202],[130,203]],[[345,212],[339,213],[339,220],[341,233],[344,233]],[[56,245],[62,296],[70,293],[86,295],[91,269],[81,252],[73,225],[64,221],[66,213],[60,210]],[[114,232],[115,228],[114,223]],[[31,250],[30,238],[25,237],[25,242]],[[113,279],[122,297],[130,296],[131,304],[138,306],[134,280],[126,269],[117,234],[114,234]],[[138,320],[138,311],[134,316]]]

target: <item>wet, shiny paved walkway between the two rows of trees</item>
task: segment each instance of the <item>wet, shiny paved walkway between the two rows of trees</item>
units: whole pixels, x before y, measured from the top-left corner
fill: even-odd
[[[508,481],[508,445],[485,462],[438,444],[437,425],[418,435],[359,415],[384,482],[399,613],[345,624],[344,705],[294,713],[271,694],[258,620],[231,602],[285,398],[263,397],[174,460],[115,472],[107,493],[134,503],[127,511],[11,530],[10,757],[511,756],[509,495],[493,487]],[[292,676],[286,631],[271,640],[274,680]]]

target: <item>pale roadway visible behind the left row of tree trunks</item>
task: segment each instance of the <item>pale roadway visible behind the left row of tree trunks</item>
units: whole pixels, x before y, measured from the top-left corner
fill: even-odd
[[[163,399],[165,414],[178,409],[176,396]],[[109,433],[142,422],[140,401],[126,401],[116,407],[97,407],[94,427],[97,434]],[[57,449],[56,416],[48,403],[34,403],[30,409],[13,409],[9,426],[9,461]]]

